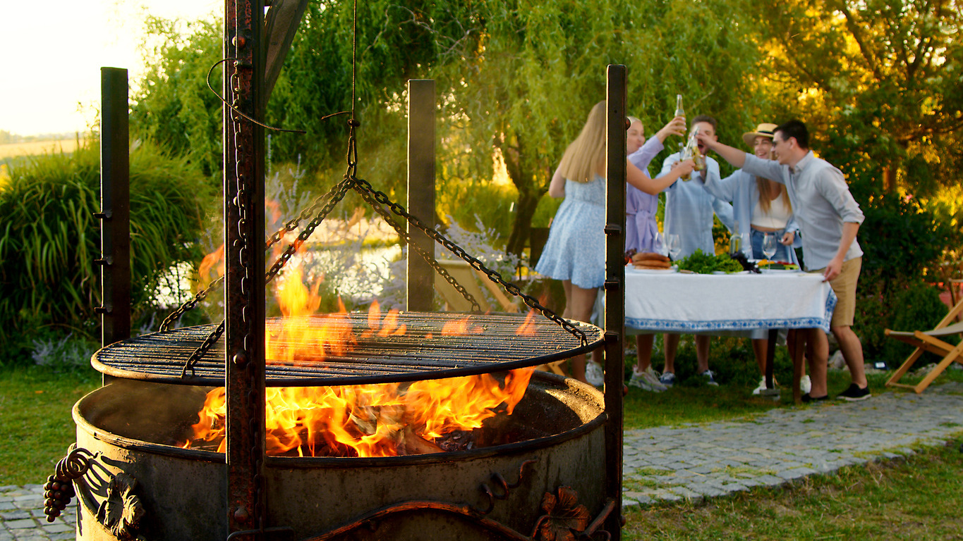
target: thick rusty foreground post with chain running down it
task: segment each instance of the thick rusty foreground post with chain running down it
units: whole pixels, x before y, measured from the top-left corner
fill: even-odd
[[[224,254],[227,397],[227,529],[232,539],[266,528],[264,486],[263,0],[225,0]],[[240,111],[240,114],[238,111]],[[242,533],[239,533],[242,532]]]

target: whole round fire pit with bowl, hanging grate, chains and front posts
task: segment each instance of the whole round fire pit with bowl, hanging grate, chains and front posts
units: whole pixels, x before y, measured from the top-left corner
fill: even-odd
[[[290,4],[275,0],[272,10]],[[262,94],[264,74],[276,76],[263,61],[278,62],[279,69],[283,54],[268,51],[265,55],[262,50],[269,41],[261,38],[263,12],[264,3],[259,0],[225,4],[225,58],[219,62],[224,65],[226,106],[224,323],[170,329],[166,322],[163,332],[133,339],[121,336],[94,355],[93,366],[108,381],[117,380],[74,407],[77,444],[47,484],[45,510],[55,516],[76,495],[78,539],[97,541],[528,540],[591,537],[595,532],[617,538],[624,67],[610,67],[605,286],[609,298],[603,332],[562,320],[520,294],[517,286],[505,283],[478,259],[358,179],[354,131],[359,123],[353,117],[344,180],[332,188],[326,203],[311,209],[311,214],[317,210],[316,216],[264,275],[269,268],[262,250],[264,133],[263,124],[253,119],[263,118],[267,102]],[[389,315],[347,313],[289,318],[285,324],[294,322],[300,328],[282,330],[281,321],[266,317],[265,285],[349,189],[395,225],[409,250],[427,262],[433,259],[404,233],[402,224],[393,221],[392,212],[402,216],[408,227],[421,230],[486,272],[509,293],[523,297],[534,311],[529,317],[401,312],[390,315],[390,326]],[[100,214],[105,223],[111,219],[110,211]],[[290,229],[273,235],[269,246],[297,229],[298,222],[293,220]],[[127,253],[117,251],[105,255],[105,272],[110,261],[126,258]],[[442,269],[435,270],[452,282]],[[262,276],[266,280],[260,280]],[[124,285],[115,279],[105,282]],[[409,280],[409,294],[413,282]],[[104,298],[117,297],[105,293]],[[107,304],[99,308],[105,321],[113,317]],[[547,319],[531,317],[539,311]],[[394,332],[402,326],[406,332]],[[446,334],[451,326],[455,332]],[[388,327],[392,330],[385,332]],[[326,331],[290,339],[319,328]],[[347,339],[337,343],[328,339],[330,332],[349,329]],[[289,352],[293,341],[306,342],[310,353]],[[508,381],[519,381],[521,374],[530,376],[526,367],[573,357],[603,344],[607,358],[604,405],[594,388],[539,372],[531,376],[524,394],[523,387],[508,389]],[[497,376],[511,370],[524,372]],[[454,443],[442,442],[444,447],[431,430],[410,436],[407,429],[399,429],[393,431],[395,439],[388,447],[400,455],[381,456],[380,451],[368,455],[357,447],[332,444],[333,436],[312,432],[316,426],[310,422],[296,429],[303,442],[276,453],[266,445],[267,438],[287,437],[269,433],[266,421],[270,406],[266,397],[275,387],[390,384],[410,393],[423,381],[467,377],[498,381],[495,386],[500,388],[504,381],[501,390],[508,398],[505,406],[488,407],[490,415],[485,413],[487,417],[479,423],[458,433],[446,432],[455,433]],[[218,386],[225,389],[221,394],[215,390]],[[199,413],[205,402],[212,401],[221,401],[221,409],[215,407],[213,416]],[[380,403],[367,406],[378,414],[385,408]],[[407,410],[389,413],[408,416]],[[353,416],[358,417],[351,429],[357,438],[364,439],[384,424],[380,418],[373,425],[365,415]],[[198,432],[194,425],[202,430]],[[209,437],[209,431],[204,432],[211,428],[222,429],[222,439],[218,439],[221,434]],[[328,455],[310,455],[325,447]],[[449,451],[437,452],[438,448]],[[221,449],[223,453],[218,452]]]

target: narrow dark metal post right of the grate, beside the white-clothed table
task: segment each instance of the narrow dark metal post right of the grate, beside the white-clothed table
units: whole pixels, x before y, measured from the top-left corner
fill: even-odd
[[[605,411],[606,497],[615,508],[606,520],[612,539],[622,527],[622,388],[625,379],[625,159],[626,79],[624,65],[606,73],[606,263],[605,263]]]

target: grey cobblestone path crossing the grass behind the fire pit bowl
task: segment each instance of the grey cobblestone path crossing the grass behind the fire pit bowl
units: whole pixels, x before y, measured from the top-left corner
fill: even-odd
[[[628,430],[623,506],[701,502],[777,486],[872,460],[914,455],[963,435],[963,383],[923,395],[885,393],[858,403],[773,409],[746,421]],[[72,503],[73,504],[73,503]],[[53,523],[43,487],[0,486],[0,541],[74,539],[71,507]]]

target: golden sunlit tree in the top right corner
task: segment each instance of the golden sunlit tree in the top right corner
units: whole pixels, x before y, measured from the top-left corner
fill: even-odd
[[[858,190],[932,194],[958,184],[961,7],[955,0],[791,0],[759,20],[764,85],[804,118]]]

